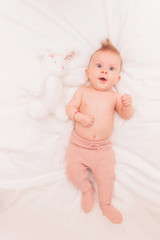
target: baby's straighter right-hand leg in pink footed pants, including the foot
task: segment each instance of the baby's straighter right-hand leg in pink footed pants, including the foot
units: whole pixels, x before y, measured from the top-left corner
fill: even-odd
[[[111,206],[114,188],[115,157],[112,148],[99,151],[99,160],[94,167],[94,177],[98,187],[99,203],[103,214],[113,223],[121,223],[120,212]]]

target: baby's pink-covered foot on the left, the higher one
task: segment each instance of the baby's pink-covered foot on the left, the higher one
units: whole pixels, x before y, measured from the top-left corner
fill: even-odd
[[[85,213],[89,213],[94,205],[94,188],[87,192],[82,192],[81,206]]]

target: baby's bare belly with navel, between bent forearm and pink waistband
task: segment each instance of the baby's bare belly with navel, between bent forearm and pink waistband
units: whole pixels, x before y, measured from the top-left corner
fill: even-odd
[[[113,131],[113,120],[95,122],[91,127],[83,127],[81,124],[76,122],[75,131],[80,137],[86,140],[103,140],[111,136]]]

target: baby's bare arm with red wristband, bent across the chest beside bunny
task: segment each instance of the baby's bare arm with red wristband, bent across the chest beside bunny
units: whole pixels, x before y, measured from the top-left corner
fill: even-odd
[[[83,87],[79,88],[71,101],[66,106],[66,113],[70,120],[76,121],[81,123],[84,127],[92,126],[94,123],[94,118],[92,116],[89,116],[87,114],[81,113],[79,111],[81,102],[82,102],[82,96],[84,94]]]

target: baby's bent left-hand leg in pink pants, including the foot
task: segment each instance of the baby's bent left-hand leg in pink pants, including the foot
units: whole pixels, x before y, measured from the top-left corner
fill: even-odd
[[[84,157],[86,149],[71,144],[67,151],[66,173],[68,179],[82,192],[81,206],[85,213],[93,208],[94,189],[88,179],[88,168]]]

